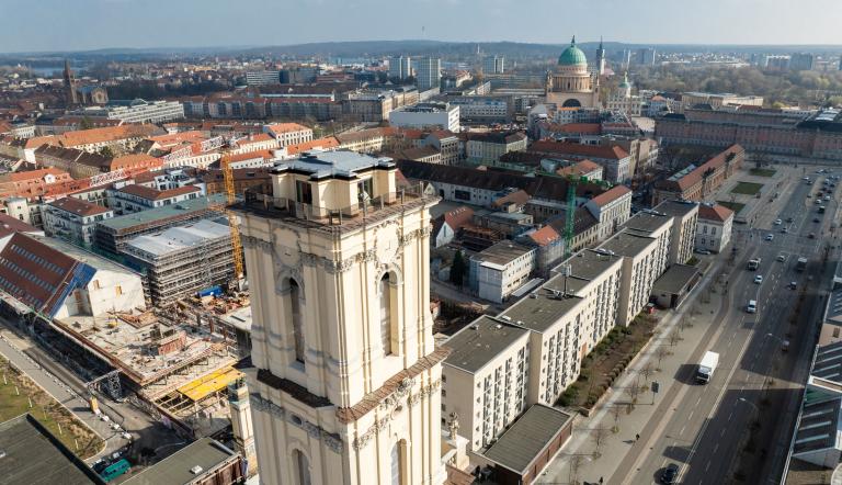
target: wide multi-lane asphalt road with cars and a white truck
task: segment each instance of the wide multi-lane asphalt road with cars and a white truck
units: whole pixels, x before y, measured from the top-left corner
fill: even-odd
[[[789,414],[771,420],[762,415],[761,408],[767,405],[761,403],[762,390],[766,376],[773,372],[794,382],[804,381],[804,376],[793,376],[792,373],[795,369],[799,373],[805,372],[795,363],[810,358],[813,334],[790,329],[788,317],[798,292],[790,290],[788,284],[796,281],[800,289],[810,283],[810,287],[815,289],[817,283],[808,281],[808,274],[819,267],[819,248],[823,244],[821,230],[829,228],[831,214],[837,207],[833,201],[827,203],[833,205],[828,205],[828,214],[819,216],[821,223],[817,224],[812,222],[817,216],[817,205],[812,204],[812,199],[806,198],[807,193],[816,192],[816,185],[801,182],[786,192],[789,192],[788,202],[777,217],[783,221],[792,217],[793,223],[775,226],[772,223],[774,218],[764,214],[759,222],[761,228],[736,226],[740,232],[735,235],[733,245],[739,248],[739,253],[725,277],[728,280],[727,301],[719,313],[709,318],[705,337],[674,375],[681,385],[663,396],[655,414],[660,419],[650,420],[640,433],[646,437],[636,444],[640,451],[629,453],[608,483],[657,482],[669,463],[681,466],[680,483],[728,483],[733,473],[733,462],[754,420],[760,419],[765,426],[792,428],[793,422],[780,419],[792,421],[794,416]],[[782,196],[787,196],[787,193]],[[787,226],[788,234],[781,233],[784,226]],[[810,233],[819,237],[811,239],[808,237]],[[772,241],[764,240],[767,234],[774,235]],[[778,255],[784,255],[786,261],[776,261]],[[810,259],[808,271],[795,270],[798,256]],[[762,258],[756,272],[746,269],[747,261],[753,257]],[[758,274],[763,277],[761,284],[754,283]],[[721,291],[721,286],[719,289]],[[749,300],[758,302],[756,314],[746,312]],[[787,337],[787,332],[793,334],[792,337]],[[790,340],[787,352],[782,350],[784,339]],[[719,365],[712,382],[699,385],[695,383],[694,374],[696,364],[707,350],[719,353]],[[778,439],[787,439],[786,433]],[[770,458],[781,461],[775,451],[782,447],[774,444],[758,443],[758,452],[774,454]],[[747,483],[761,483],[759,475],[770,472],[749,473]]]

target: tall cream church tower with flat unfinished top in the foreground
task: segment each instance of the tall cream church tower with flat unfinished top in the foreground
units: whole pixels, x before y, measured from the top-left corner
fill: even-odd
[[[389,158],[308,153],[236,206],[266,485],[439,485],[441,362],[429,208]]]

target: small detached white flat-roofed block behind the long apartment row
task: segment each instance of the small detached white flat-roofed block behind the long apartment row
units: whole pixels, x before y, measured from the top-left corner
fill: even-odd
[[[470,258],[471,287],[480,298],[502,303],[536,268],[537,248],[502,240]]]

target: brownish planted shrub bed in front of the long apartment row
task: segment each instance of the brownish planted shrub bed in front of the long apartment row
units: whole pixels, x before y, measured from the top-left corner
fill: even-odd
[[[623,373],[628,362],[652,338],[657,323],[656,317],[641,314],[628,327],[615,327],[611,330],[582,360],[579,379],[565,391],[558,404],[593,408]]]

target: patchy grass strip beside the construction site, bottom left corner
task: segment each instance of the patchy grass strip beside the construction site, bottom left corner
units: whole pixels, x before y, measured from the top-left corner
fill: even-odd
[[[102,449],[102,439],[79,421],[27,376],[20,374],[0,358],[0,422],[30,413],[49,429],[68,449],[81,459],[93,456]],[[5,384],[3,384],[5,379]],[[18,393],[15,393],[15,386]],[[27,399],[29,396],[29,399]],[[30,408],[32,399],[32,408]],[[59,433],[59,425],[61,432]],[[77,450],[76,443],[79,444]]]

